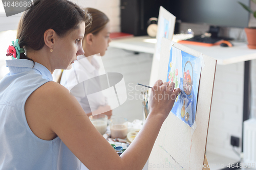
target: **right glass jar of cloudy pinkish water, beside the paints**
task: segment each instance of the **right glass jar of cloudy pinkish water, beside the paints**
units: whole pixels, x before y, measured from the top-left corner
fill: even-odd
[[[127,124],[126,118],[113,118],[110,120],[110,131],[111,138],[125,139],[127,135]]]

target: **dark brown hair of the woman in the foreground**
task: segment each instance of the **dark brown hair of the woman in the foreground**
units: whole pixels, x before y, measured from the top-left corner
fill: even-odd
[[[24,12],[17,29],[20,47],[40,50],[44,45],[44,33],[53,29],[59,37],[68,31],[77,29],[81,21],[86,28],[91,24],[91,16],[76,4],[67,0],[36,0],[34,5]],[[23,53],[20,59],[29,59]],[[31,60],[31,59],[30,59]],[[33,60],[32,60],[33,61]]]

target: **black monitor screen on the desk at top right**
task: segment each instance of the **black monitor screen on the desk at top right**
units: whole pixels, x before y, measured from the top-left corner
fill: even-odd
[[[250,0],[239,0],[249,6]],[[175,15],[182,22],[223,27],[248,27],[249,12],[238,0],[176,0]]]

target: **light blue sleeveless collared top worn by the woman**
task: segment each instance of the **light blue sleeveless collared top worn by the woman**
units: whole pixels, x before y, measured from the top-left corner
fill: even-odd
[[[27,123],[25,103],[52,81],[51,72],[26,59],[7,60],[6,66],[10,73],[0,81],[0,169],[80,169],[81,162],[59,137],[42,140]]]

